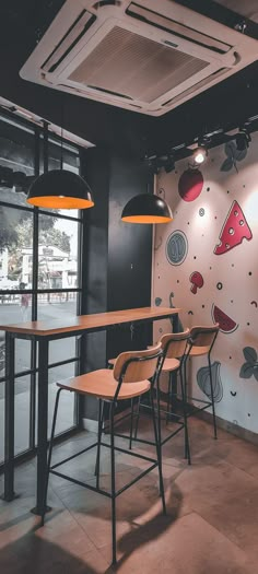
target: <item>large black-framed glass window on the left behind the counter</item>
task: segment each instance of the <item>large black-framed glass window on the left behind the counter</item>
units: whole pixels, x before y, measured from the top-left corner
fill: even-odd
[[[70,318],[80,312],[80,211],[40,210],[26,203],[27,184],[48,169],[79,173],[79,150],[52,133],[0,113],[0,324]],[[47,150],[47,151],[46,151]],[[77,338],[49,344],[49,413],[56,382],[74,375]],[[0,419],[4,409],[4,337],[0,332]],[[68,360],[70,362],[68,362]],[[63,363],[63,364],[62,364]],[[15,454],[36,446],[36,343],[15,341]],[[57,433],[77,424],[72,394],[60,403]],[[3,427],[0,429],[0,464]]]

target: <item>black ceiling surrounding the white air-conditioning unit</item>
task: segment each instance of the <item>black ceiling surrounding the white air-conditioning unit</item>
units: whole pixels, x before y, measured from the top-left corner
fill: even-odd
[[[212,0],[176,0],[230,27],[239,15]],[[258,113],[258,62],[165,116],[153,118],[21,80],[19,70],[64,0],[8,0],[0,5],[0,95],[96,144],[142,156],[191,142],[204,131],[230,129]],[[258,25],[247,33],[258,38]]]

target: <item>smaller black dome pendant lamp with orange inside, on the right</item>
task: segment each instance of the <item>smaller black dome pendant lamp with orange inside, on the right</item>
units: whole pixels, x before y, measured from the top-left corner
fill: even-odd
[[[169,223],[173,214],[169,206],[152,194],[140,194],[128,201],[121,213],[128,223]]]

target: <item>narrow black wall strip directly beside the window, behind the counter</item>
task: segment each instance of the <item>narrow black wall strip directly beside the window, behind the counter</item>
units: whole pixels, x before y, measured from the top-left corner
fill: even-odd
[[[102,149],[87,150],[83,157],[83,173],[93,190],[95,206],[84,211],[82,313],[104,313],[107,308],[107,258],[108,258],[108,197],[109,159]],[[103,368],[106,365],[106,332],[83,337],[83,372]],[[95,419],[97,405],[87,399],[83,405],[83,417]]]

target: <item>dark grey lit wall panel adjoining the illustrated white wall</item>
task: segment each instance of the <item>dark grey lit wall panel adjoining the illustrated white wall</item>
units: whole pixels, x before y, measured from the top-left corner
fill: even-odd
[[[127,201],[138,194],[146,192],[148,183],[150,175],[142,162],[113,156],[108,218],[108,311],[151,304],[152,225],[121,221],[121,211]],[[150,328],[118,327],[108,333],[107,356],[144,348],[149,340]]]

